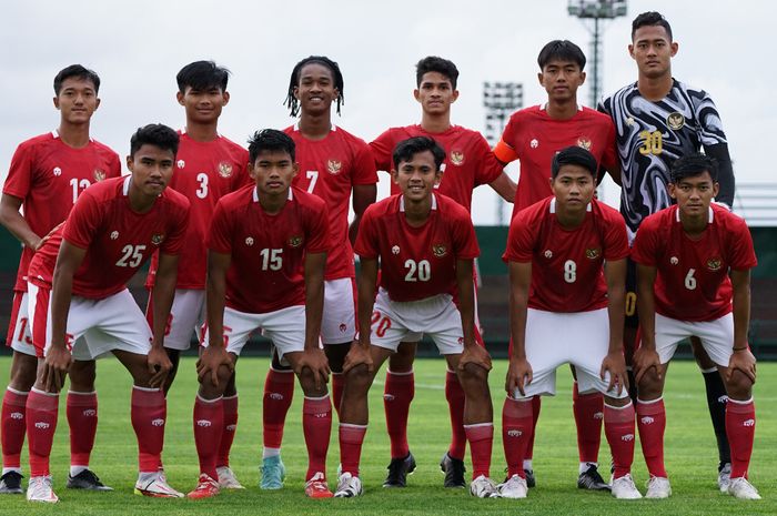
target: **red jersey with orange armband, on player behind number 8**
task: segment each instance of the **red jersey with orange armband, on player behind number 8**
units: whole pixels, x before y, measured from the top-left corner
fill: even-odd
[[[608,170],[617,166],[615,125],[604,113],[582,107],[568,120],[554,120],[544,105],[533,105],[512,114],[494,153],[505,163],[521,160],[513,217],[524,208],[553,195],[551,164],[556,153],[569,145],[587,149]]]

